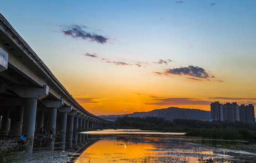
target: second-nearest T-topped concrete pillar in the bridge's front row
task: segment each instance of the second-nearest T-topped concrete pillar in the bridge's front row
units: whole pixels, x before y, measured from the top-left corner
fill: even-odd
[[[56,116],[57,116],[57,108],[64,105],[63,98],[60,100],[41,100],[43,105],[49,108],[49,125],[48,129],[53,131],[53,134],[56,133]]]

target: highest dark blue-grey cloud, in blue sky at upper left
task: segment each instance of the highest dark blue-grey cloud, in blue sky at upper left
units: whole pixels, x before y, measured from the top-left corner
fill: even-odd
[[[90,34],[86,32],[85,29],[87,27],[80,26],[80,25],[71,25],[67,27],[65,30],[62,30],[62,32],[65,35],[71,36],[72,38],[82,38],[85,40],[89,40],[91,42],[97,42],[104,44],[108,41],[108,38],[105,38],[104,36],[98,35],[98,34]]]

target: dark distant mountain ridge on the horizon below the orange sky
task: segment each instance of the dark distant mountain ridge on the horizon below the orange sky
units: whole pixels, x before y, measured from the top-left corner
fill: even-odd
[[[165,117],[166,120],[173,120],[176,118],[186,118],[194,120],[210,120],[211,111],[199,110],[199,109],[184,109],[178,107],[169,107],[166,109],[160,109],[160,117]],[[158,109],[147,112],[134,112],[127,114],[130,117],[146,117],[146,116],[158,116]],[[99,115],[101,118],[117,118],[124,115]]]

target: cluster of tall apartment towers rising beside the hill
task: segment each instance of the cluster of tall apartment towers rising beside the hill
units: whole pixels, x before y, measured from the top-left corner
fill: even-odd
[[[244,123],[255,123],[254,105],[237,105],[236,102],[220,104],[211,103],[211,119],[227,120],[231,122],[242,121]]]

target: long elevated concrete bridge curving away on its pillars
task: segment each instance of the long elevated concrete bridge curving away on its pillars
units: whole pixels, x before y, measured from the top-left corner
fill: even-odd
[[[0,14],[1,135],[34,139],[47,131],[102,128],[112,122],[85,110]]]

